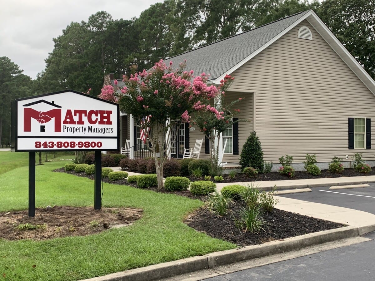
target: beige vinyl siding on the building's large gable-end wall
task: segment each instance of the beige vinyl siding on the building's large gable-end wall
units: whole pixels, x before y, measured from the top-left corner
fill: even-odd
[[[312,40],[299,39],[298,30],[310,28]],[[348,118],[372,119],[375,96],[326,41],[303,21],[256,55],[233,75],[232,91],[254,92],[256,132],[264,160],[279,163],[293,155],[301,163],[316,154],[318,162],[333,156],[345,159],[362,152],[374,160],[372,149],[348,149]],[[244,135],[240,135],[243,143]]]

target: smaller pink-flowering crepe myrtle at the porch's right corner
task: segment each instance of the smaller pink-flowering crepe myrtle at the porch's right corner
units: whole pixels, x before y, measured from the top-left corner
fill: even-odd
[[[206,76],[202,73],[202,83],[207,81]],[[243,100],[239,98],[230,103],[225,103],[225,91],[229,88],[234,77],[225,75],[216,87],[215,95],[201,95],[201,99],[193,105],[192,123],[198,126],[199,130],[210,140],[211,151],[211,175],[218,175],[219,163],[219,145],[221,134],[233,125],[233,116],[239,114],[240,109],[231,111],[232,106]],[[249,122],[249,120],[239,120]],[[235,121],[238,122],[238,121]],[[190,125],[191,126],[191,125]],[[215,139],[217,140],[215,142]]]

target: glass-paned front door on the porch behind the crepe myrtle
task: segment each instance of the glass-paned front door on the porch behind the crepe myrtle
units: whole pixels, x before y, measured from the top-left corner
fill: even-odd
[[[189,129],[186,123],[172,127],[171,158],[182,158],[185,148],[189,148]]]

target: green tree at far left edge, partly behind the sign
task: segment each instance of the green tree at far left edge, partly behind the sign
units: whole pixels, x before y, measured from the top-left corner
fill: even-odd
[[[0,57],[0,145],[10,142],[10,103],[29,96],[31,78],[7,57]]]

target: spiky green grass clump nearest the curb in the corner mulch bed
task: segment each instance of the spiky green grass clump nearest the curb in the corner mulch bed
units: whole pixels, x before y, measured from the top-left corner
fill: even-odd
[[[258,233],[260,230],[266,232],[264,227],[268,228],[268,223],[261,218],[260,206],[255,208],[244,208],[239,212],[240,220],[236,222],[237,227],[244,229],[245,232]]]

